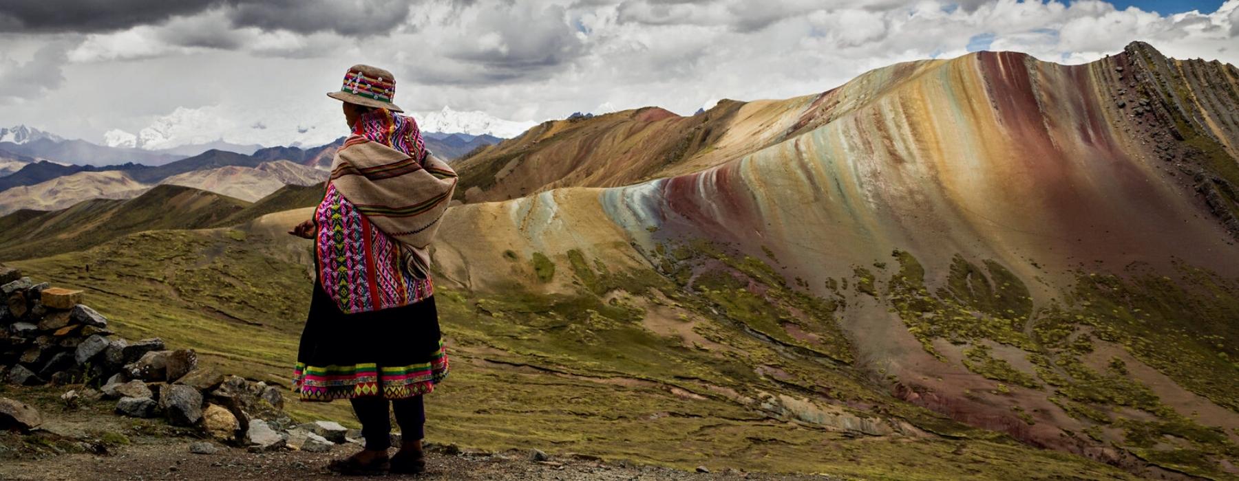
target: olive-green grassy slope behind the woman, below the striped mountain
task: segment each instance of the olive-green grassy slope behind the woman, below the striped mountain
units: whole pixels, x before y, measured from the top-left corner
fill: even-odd
[[[87,302],[123,335],[159,335],[172,346],[197,349],[224,370],[286,383],[309,302],[307,273],[275,242],[247,237],[232,229],[140,232],[15,265],[87,289]],[[533,270],[528,260],[512,262],[515,271]],[[90,272],[76,267],[82,265],[90,265]],[[746,260],[717,272],[769,282],[761,266]],[[771,286],[777,292],[769,297],[732,300],[711,296],[727,288],[727,281],[685,289],[674,277],[607,272],[579,253],[554,276],[574,276],[579,292],[499,296],[440,288],[436,298],[455,367],[429,398],[432,439],[482,448],[538,445],[680,467],[710,460],[870,479],[1022,477],[1033,466],[1044,477],[1125,476],[893,401],[846,368],[845,340],[797,349],[804,343],[768,341],[750,330],[766,329],[761,309],[804,313],[821,308],[820,299]],[[646,312],[664,308],[695,319],[693,331],[710,345],[643,328]],[[705,320],[715,310],[727,315]],[[794,321],[824,336],[833,333],[829,312]],[[787,376],[778,382],[757,376],[755,365]],[[823,404],[831,413],[826,423],[808,422],[813,418],[781,414],[766,393],[870,408]],[[301,417],[349,420],[343,403],[292,409]],[[882,425],[886,434],[829,425],[859,419]],[[912,429],[901,425],[952,436],[892,434]]]

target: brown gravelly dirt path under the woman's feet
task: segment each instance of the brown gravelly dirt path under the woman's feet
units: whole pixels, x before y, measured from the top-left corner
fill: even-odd
[[[134,444],[110,455],[64,454],[37,460],[6,460],[0,479],[26,480],[325,480],[341,476],[323,466],[357,448],[336,446],[330,453],[248,453],[223,448],[217,454],[191,454],[188,439]],[[771,476],[743,472],[686,472],[626,462],[553,459],[534,462],[518,450],[499,454],[429,454],[429,470],[419,476],[382,476],[385,480],[828,480],[821,476]]]

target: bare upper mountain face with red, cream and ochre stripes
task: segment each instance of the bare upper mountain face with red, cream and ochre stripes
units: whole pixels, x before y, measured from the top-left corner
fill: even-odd
[[[1100,98],[1114,89],[1113,68],[983,52],[908,69],[912,79],[818,129],[716,168],[607,190],[603,205],[636,237],[668,224],[664,234],[766,245],[813,260],[789,270],[815,281],[891,249],[939,268],[958,252],[1000,258],[1030,276],[1040,273],[1031,262],[1176,257],[1235,273],[1224,255],[1233,240],[1135,129],[1175,126]]]

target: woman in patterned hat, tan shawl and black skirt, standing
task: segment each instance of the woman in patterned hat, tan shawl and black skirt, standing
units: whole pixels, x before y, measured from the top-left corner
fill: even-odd
[[[332,461],[342,474],[421,472],[422,394],[447,375],[427,247],[456,172],[426,151],[413,117],[392,103],[395,78],[353,66],[339,92],[352,135],[331,166],[312,220],[317,278],[301,334],[294,389],[302,401],[349,399],[366,448]],[[388,458],[390,417],[403,433]]]

